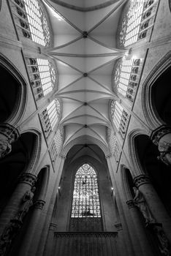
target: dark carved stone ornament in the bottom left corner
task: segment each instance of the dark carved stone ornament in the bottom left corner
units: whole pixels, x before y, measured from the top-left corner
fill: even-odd
[[[20,230],[21,226],[22,226],[22,222],[20,222],[20,220],[11,219],[9,222],[9,225],[7,225],[7,227],[4,228],[4,232],[2,233],[0,238],[0,255],[1,256],[7,255],[7,252],[10,249],[12,240],[18,234],[18,230]]]

